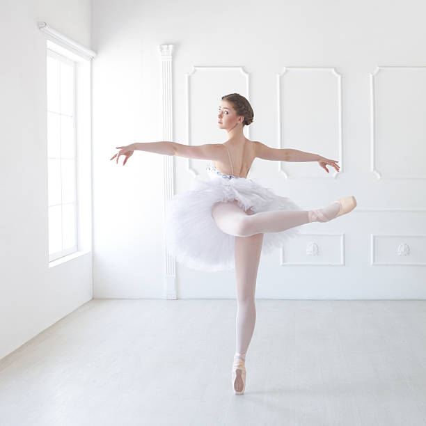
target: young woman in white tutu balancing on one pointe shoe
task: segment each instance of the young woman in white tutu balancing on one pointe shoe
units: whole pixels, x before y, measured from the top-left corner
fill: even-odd
[[[354,196],[340,198],[317,210],[303,210],[293,200],[274,194],[247,178],[257,158],[281,161],[317,161],[339,171],[338,161],[292,149],[269,148],[244,137],[243,127],[253,122],[253,109],[238,93],[221,97],[218,126],[226,130],[225,143],[182,145],[176,142],[132,143],[118,146],[112,159],[134,150],[207,159],[210,180],[197,180],[195,188],[168,200],[166,246],[175,259],[192,269],[235,269],[237,281],[236,352],[232,388],[242,395],[246,387],[245,359],[255,327],[255,285],[260,253],[282,246],[299,234],[298,226],[326,222],[356,207]]]

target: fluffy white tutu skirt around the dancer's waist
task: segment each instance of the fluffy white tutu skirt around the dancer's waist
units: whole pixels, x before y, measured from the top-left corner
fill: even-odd
[[[218,228],[212,206],[219,201],[237,200],[244,210],[303,210],[293,200],[274,194],[269,188],[247,178],[225,175],[207,164],[209,181],[196,180],[194,189],[167,200],[165,237],[168,253],[183,265],[203,271],[235,269],[235,236]],[[283,246],[298,228],[265,232],[262,253]]]

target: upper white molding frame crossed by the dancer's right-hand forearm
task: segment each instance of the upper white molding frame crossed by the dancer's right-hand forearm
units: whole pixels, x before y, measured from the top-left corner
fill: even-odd
[[[277,74],[277,100],[278,100],[278,148],[282,147],[282,139],[283,135],[281,134],[281,77],[287,72],[287,70],[329,70],[333,74],[336,75],[338,78],[338,126],[339,126],[339,151],[340,155],[339,162],[340,162],[340,171],[336,171],[335,169],[331,168],[333,174],[331,175],[333,179],[336,179],[338,175],[340,175],[344,170],[344,164],[343,164],[343,133],[342,133],[342,75],[339,74],[336,71],[336,68],[334,67],[284,67],[283,72],[278,72]],[[283,168],[283,161],[278,161],[278,173],[281,173],[284,175],[285,179],[290,178],[290,175],[284,170]],[[324,177],[310,177],[310,176],[297,176],[298,179],[329,179],[328,176]]]

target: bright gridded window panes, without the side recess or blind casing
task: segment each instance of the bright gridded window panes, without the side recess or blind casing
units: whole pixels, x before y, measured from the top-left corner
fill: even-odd
[[[49,261],[77,251],[76,63],[47,49]]]

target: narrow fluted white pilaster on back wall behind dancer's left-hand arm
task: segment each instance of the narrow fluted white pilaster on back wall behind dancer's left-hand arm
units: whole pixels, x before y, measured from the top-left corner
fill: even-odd
[[[159,45],[161,55],[161,111],[162,111],[162,141],[173,141],[173,45]],[[166,219],[166,203],[175,195],[173,155],[164,155],[164,212]],[[168,253],[164,235],[164,294],[166,299],[178,299],[176,289],[176,261]]]

